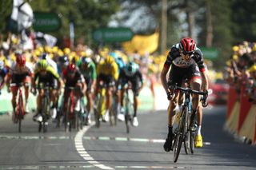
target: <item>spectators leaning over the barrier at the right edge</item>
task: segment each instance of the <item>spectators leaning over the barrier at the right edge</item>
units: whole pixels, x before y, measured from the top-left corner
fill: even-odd
[[[241,89],[246,89],[249,101],[256,103],[256,42],[241,42],[233,46],[233,53],[226,61],[224,78],[236,89],[238,97]]]

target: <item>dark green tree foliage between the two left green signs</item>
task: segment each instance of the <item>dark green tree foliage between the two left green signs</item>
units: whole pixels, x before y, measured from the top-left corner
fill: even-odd
[[[54,12],[62,20],[62,28],[55,33],[59,40],[69,38],[70,22],[74,22],[75,38],[82,38],[82,42],[91,44],[91,34],[95,28],[106,26],[110,16],[118,10],[117,0],[40,0],[32,1],[30,5],[34,11]]]

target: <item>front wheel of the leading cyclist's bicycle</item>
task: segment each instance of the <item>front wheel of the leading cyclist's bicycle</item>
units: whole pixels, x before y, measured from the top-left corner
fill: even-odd
[[[179,153],[182,148],[182,142],[184,141],[184,136],[186,132],[186,114],[187,108],[182,110],[182,120],[178,125],[178,132],[176,132],[176,136],[174,139],[174,162],[177,162]]]

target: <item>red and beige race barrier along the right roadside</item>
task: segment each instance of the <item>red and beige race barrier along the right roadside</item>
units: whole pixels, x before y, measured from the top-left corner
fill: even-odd
[[[230,85],[226,128],[238,137],[251,140],[256,144],[256,105],[246,96],[246,87],[243,85],[240,94],[236,93],[234,86]]]

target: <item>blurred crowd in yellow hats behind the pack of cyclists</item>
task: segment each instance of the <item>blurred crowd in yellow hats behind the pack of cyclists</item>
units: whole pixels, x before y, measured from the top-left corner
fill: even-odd
[[[70,61],[79,61],[81,57],[91,57],[95,64],[102,59],[105,53],[115,52],[123,61],[135,61],[140,65],[143,78],[147,86],[151,89],[154,97],[154,85],[159,81],[159,75],[164,63],[164,55],[138,53],[126,53],[122,49],[111,49],[104,46],[98,49],[92,49],[88,45],[78,43],[74,48],[61,47],[58,45],[47,45],[45,41],[34,38],[30,32],[25,35],[5,34],[0,35],[0,61],[4,63],[6,69],[15,61],[15,53],[22,51],[26,56],[26,62],[29,63],[31,69],[34,69],[35,63],[38,61],[42,53],[48,53],[49,57],[57,64],[60,57],[67,56]],[[2,87],[0,87],[2,89]]]

